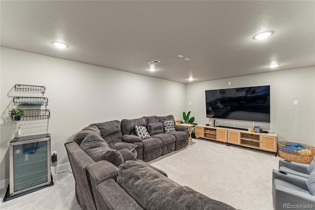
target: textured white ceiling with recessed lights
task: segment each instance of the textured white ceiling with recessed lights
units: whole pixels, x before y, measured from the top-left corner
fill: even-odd
[[[0,9],[3,47],[183,83],[315,66],[314,0],[1,0]]]

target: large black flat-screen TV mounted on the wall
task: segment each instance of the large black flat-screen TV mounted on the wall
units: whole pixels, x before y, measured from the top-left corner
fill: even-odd
[[[207,117],[270,122],[270,85],[206,90]]]

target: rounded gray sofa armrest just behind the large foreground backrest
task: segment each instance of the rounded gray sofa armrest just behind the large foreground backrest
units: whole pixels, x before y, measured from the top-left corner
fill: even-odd
[[[117,179],[118,168],[112,163],[101,160],[88,166],[92,188],[107,179]]]

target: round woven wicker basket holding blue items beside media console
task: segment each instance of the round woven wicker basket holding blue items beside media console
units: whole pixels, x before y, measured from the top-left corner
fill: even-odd
[[[296,144],[300,144],[301,148],[292,147]],[[315,147],[303,143],[278,141],[277,148],[281,158],[298,163],[310,164],[315,156]]]

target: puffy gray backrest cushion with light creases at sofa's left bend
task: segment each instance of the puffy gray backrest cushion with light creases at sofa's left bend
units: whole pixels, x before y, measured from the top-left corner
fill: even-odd
[[[82,142],[80,147],[95,161],[107,160],[108,162],[118,166],[124,163],[122,155],[115,149],[108,147],[105,140],[95,134],[88,135]]]

